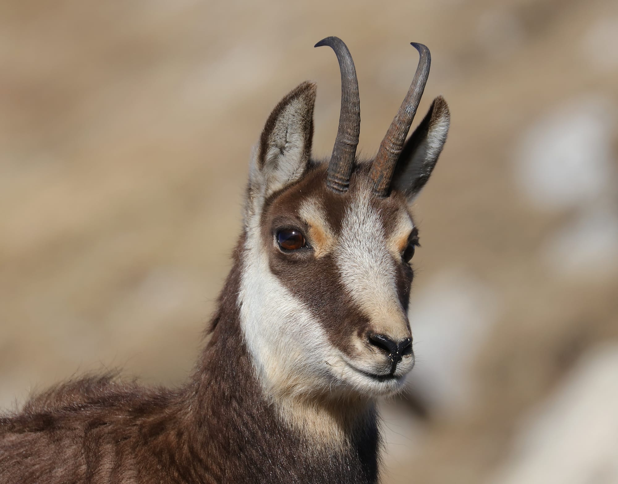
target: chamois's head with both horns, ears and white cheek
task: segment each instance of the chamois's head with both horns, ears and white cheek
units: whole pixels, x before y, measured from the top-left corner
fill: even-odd
[[[410,205],[449,129],[436,98],[405,142],[430,69],[429,50],[374,159],[356,157],[360,100],[337,37],[341,117],[328,163],[311,158],[316,86],[304,82],[268,117],[253,154],[239,305],[243,337],[275,397],[372,397],[414,364],[408,322],[418,230]]]

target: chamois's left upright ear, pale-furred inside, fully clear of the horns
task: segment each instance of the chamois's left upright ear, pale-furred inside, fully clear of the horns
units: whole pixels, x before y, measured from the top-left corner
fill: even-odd
[[[302,177],[311,155],[316,85],[303,82],[268,117],[253,154],[249,190],[268,197]]]

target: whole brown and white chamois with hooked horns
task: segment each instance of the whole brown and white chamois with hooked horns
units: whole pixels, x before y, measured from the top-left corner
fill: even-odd
[[[375,401],[412,369],[407,310],[418,230],[410,205],[449,129],[436,98],[406,142],[426,46],[374,159],[358,159],[350,52],[332,155],[311,158],[316,86],[276,105],[250,162],[243,229],[188,383],[109,376],[60,384],[0,417],[0,482],[375,483]]]

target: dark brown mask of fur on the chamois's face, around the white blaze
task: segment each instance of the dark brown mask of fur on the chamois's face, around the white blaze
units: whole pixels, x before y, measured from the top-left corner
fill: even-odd
[[[370,320],[342,283],[332,254],[315,258],[311,250],[283,253],[276,244],[276,230],[282,226],[298,227],[307,236],[307,221],[300,217],[300,211],[303,203],[313,199],[320,201],[328,226],[337,239],[345,237],[341,233],[344,216],[357,196],[358,188],[368,180],[366,171],[365,167],[360,166],[352,176],[349,192],[336,194],[326,188],[325,166],[317,166],[297,184],[270,197],[261,216],[262,239],[269,251],[270,270],[310,308],[332,344],[350,357],[355,355],[353,336],[364,336],[370,330]],[[407,210],[405,199],[397,195],[372,200],[371,204],[378,212],[386,234],[399,223],[399,211]],[[311,240],[308,242],[311,243]],[[397,297],[407,310],[412,269],[400,259],[392,258],[392,262],[396,270]]]

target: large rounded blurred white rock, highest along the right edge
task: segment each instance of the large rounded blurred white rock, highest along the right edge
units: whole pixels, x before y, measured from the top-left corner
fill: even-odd
[[[515,149],[515,179],[536,208],[589,203],[616,187],[612,101],[589,95],[531,123]]]

